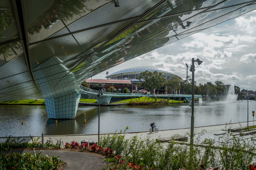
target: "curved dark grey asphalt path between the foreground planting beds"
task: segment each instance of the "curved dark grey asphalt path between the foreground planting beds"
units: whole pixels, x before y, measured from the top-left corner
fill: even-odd
[[[29,152],[33,153],[33,150],[13,150],[14,152]],[[36,150],[36,153],[39,150]],[[59,156],[59,159],[66,163],[65,170],[98,170],[99,168],[106,167],[106,161],[94,154],[64,151],[64,150],[44,150],[43,155]]]

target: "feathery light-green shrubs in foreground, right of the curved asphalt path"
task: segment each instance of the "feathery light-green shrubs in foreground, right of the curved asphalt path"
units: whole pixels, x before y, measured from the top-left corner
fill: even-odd
[[[193,146],[174,140],[163,144],[150,137],[125,139],[122,133],[101,136],[99,145],[114,150],[117,155],[115,163],[108,164],[102,170],[249,169],[256,158],[254,140],[245,142],[226,130],[218,141],[206,138],[200,142],[204,132],[194,139]],[[207,168],[203,169],[203,166]]]

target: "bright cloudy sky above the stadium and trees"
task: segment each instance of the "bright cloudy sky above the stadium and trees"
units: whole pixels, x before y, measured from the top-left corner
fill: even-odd
[[[203,60],[195,63],[195,81],[222,81],[241,89],[256,90],[256,10],[240,17],[218,24],[173,42],[127,62],[109,71],[112,74],[120,69],[134,66],[156,66],[161,70],[172,71],[186,78],[187,67],[192,57]],[[106,71],[93,76],[105,79]],[[189,71],[189,76],[191,72]]]

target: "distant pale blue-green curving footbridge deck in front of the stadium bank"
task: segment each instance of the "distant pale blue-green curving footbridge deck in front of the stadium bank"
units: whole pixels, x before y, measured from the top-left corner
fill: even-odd
[[[89,89],[86,88],[82,85],[80,85],[80,91],[79,93],[81,94],[85,94],[86,97],[88,97],[89,99],[96,99],[98,102],[98,97],[97,95],[99,94],[98,90],[93,90],[93,89]],[[100,103],[101,104],[109,104],[111,98],[125,98],[125,97],[155,97],[157,96],[158,98],[170,98],[170,99],[186,99],[186,100],[190,100],[192,99],[192,95],[175,95],[175,94],[148,94],[148,95],[144,95],[144,94],[134,94],[134,93],[110,93],[110,92],[104,92],[103,95],[100,95]],[[199,102],[202,101],[202,95],[194,95],[194,98],[199,98]]]

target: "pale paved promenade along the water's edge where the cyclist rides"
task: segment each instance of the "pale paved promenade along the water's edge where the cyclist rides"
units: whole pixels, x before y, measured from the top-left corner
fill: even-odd
[[[254,121],[256,122],[256,121]],[[247,127],[247,122],[241,122],[240,123],[242,127]],[[256,123],[254,123],[256,125]],[[253,125],[253,121],[249,122],[249,126]],[[234,123],[231,124],[232,128],[239,128],[240,125],[239,123]],[[150,126],[149,126],[150,128]],[[222,131],[222,129],[225,128],[225,125],[214,125],[214,126],[204,126],[204,127],[195,127],[194,128],[194,133],[199,133],[202,129],[205,129],[207,131],[207,133],[204,135],[204,137],[215,137],[218,138],[218,136],[213,135],[213,132],[220,132]],[[142,138],[146,138],[148,136],[151,136],[151,138],[153,139],[157,139],[159,137],[161,138],[167,138],[167,137],[171,137],[174,134],[180,134],[180,135],[185,135],[186,133],[190,133],[190,128],[180,128],[180,129],[170,129],[170,130],[159,130],[157,133],[149,133],[147,132],[126,132],[125,133],[125,138],[129,139],[132,136],[135,135],[141,135]],[[104,135],[104,134],[101,134]],[[101,136],[100,135],[100,136]],[[35,136],[33,138],[37,138],[40,137],[38,141],[41,141],[41,136]],[[98,140],[98,134],[78,134],[78,135],[49,135],[49,136],[44,136],[44,143],[46,142],[46,140],[48,140],[48,137],[51,137],[53,139],[53,142],[56,143],[57,140],[55,139],[60,139],[62,138],[64,144],[65,142],[70,142],[70,141],[76,141],[79,142],[82,140],[92,140],[92,141],[97,141]],[[32,142],[31,138],[26,136],[26,137],[21,137],[21,139],[25,139],[25,141],[28,142]],[[0,137],[0,142],[5,141],[6,138],[5,137]]]

